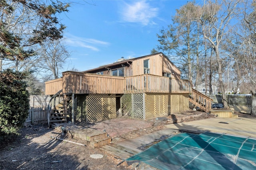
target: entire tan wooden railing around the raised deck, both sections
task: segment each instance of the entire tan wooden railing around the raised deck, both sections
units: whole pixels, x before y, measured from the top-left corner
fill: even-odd
[[[63,78],[46,82],[46,94],[124,94],[140,92],[190,93],[189,80],[181,80],[152,74],[118,77],[67,71]]]

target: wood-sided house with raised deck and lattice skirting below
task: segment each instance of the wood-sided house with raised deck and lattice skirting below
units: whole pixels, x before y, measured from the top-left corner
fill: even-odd
[[[180,74],[163,53],[63,72],[62,78],[45,83],[46,94],[53,95],[51,107],[63,104],[61,115],[49,113],[48,121],[91,122],[120,115],[145,120],[187,110],[192,87]]]

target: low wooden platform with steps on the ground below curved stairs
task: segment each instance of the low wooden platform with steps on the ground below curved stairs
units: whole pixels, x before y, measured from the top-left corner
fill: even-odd
[[[52,126],[58,129],[60,132],[62,132],[62,127],[64,127],[64,131],[68,135],[88,141],[92,148],[106,145],[111,142],[111,137],[108,137],[106,132],[100,132],[95,129],[73,125],[70,123],[54,123]]]

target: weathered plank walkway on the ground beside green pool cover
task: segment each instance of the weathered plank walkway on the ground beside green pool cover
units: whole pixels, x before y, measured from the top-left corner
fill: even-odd
[[[110,143],[99,147],[99,149],[104,150],[116,157],[127,159],[130,156],[138,154],[148,147],[164,140],[171,135],[174,135],[178,130],[171,128],[164,128],[153,133],[142,135],[133,139],[126,139],[117,143]]]

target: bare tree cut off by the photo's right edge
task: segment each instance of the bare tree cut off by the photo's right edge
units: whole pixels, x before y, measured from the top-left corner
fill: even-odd
[[[243,31],[236,33],[237,39],[233,43],[236,55],[232,57],[236,61],[239,80],[247,84],[252,94],[251,114],[256,115],[256,1],[246,1],[243,5],[240,24],[240,30]]]

